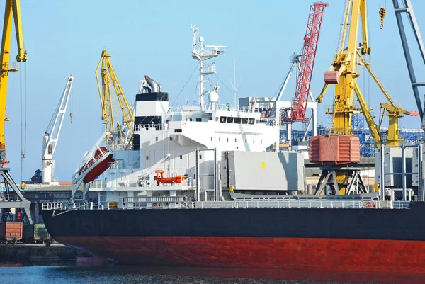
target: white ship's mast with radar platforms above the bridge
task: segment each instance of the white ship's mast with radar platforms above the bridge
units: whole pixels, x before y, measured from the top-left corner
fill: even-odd
[[[215,74],[215,63],[211,62],[211,66],[204,66],[204,62],[208,59],[217,57],[219,55],[225,55],[225,50],[219,50],[220,48],[226,48],[225,45],[204,45],[204,38],[201,36],[199,38],[199,47],[196,48],[196,35],[199,33],[199,29],[191,24],[192,29],[192,57],[199,61],[199,106],[201,110],[205,110],[204,106],[204,86],[205,82],[208,80],[204,80],[204,75]],[[208,47],[208,48],[205,48]]]

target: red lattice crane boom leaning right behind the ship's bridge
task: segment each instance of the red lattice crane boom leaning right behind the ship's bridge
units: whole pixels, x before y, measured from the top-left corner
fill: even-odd
[[[319,42],[324,8],[327,6],[329,6],[329,3],[324,2],[315,2],[310,6],[307,30],[304,36],[304,45],[302,46],[302,53],[300,55],[300,67],[297,73],[297,86],[295,89],[293,110],[290,115],[291,121],[305,120],[314,59],[316,58],[317,42]]]

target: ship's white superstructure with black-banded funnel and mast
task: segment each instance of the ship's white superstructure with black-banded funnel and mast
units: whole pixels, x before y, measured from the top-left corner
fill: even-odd
[[[254,106],[220,104],[218,84],[211,91],[204,90],[204,76],[216,72],[215,64],[206,66],[205,61],[224,52],[222,46],[203,45],[203,37],[196,47],[198,29],[192,25],[192,31],[192,56],[200,62],[199,106],[172,108],[168,93],[145,76],[135,100],[133,149],[116,150],[115,163],[89,185],[90,191],[98,191],[100,203],[174,208],[183,196],[188,201],[219,201],[222,152],[265,152],[278,142],[274,118],[263,118]],[[204,104],[205,97],[208,104]],[[184,180],[157,183],[159,170],[164,177],[183,176]]]

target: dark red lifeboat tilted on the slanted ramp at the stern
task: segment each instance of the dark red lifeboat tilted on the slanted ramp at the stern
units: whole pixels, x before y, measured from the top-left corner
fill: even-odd
[[[94,158],[82,166],[78,174],[84,174],[83,182],[90,183],[103,174],[114,161],[113,154],[110,153],[106,147],[99,147],[96,152],[94,152]]]

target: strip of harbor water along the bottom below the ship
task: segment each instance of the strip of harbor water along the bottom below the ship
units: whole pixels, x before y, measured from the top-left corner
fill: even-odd
[[[333,280],[331,280],[333,279]],[[342,280],[345,279],[345,280]],[[423,278],[387,273],[267,271],[227,268],[76,266],[75,263],[0,263],[0,283],[184,283],[184,284],[348,284],[423,283]]]

